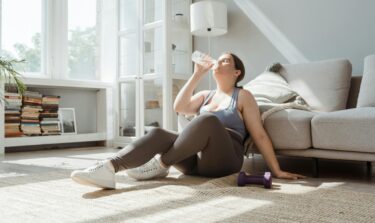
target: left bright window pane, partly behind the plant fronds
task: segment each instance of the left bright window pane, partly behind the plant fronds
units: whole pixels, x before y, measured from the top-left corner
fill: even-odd
[[[3,0],[1,13],[1,56],[25,59],[15,66],[19,72],[41,73],[42,1]]]

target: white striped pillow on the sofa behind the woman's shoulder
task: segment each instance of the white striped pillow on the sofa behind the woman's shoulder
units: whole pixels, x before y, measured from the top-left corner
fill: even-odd
[[[284,103],[296,95],[286,80],[278,73],[264,72],[244,86],[256,99],[264,103]]]

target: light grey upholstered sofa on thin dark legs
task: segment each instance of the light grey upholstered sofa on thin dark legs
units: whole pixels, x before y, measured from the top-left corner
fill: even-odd
[[[276,154],[318,159],[375,161],[375,55],[362,76],[348,60],[287,64],[280,74],[313,111],[285,109],[265,119]],[[251,91],[251,90],[250,90]],[[358,101],[358,103],[357,103]]]

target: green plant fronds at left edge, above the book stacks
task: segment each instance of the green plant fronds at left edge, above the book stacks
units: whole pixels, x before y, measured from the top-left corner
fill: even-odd
[[[22,81],[21,74],[14,69],[14,65],[23,62],[25,60],[4,59],[0,57],[0,84],[5,84],[5,89],[15,87],[21,95],[26,91],[26,85]],[[2,93],[0,91],[0,94]],[[4,95],[0,95],[0,103],[3,99]]]

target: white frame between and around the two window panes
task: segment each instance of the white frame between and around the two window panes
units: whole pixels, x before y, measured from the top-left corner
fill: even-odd
[[[68,73],[68,0],[41,0],[41,71],[20,72],[26,78],[100,81],[101,0],[96,0],[96,53],[94,79],[71,78]],[[2,10],[2,0],[0,0]],[[0,21],[2,18],[0,17]],[[0,43],[2,38],[0,23]],[[0,45],[1,48],[1,45]]]

